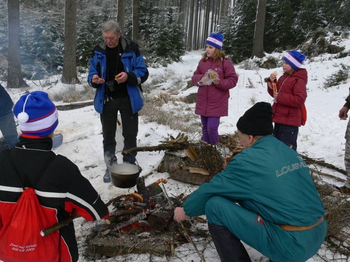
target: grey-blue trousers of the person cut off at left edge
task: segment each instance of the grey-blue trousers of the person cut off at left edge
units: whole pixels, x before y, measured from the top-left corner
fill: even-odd
[[[12,111],[0,116],[0,131],[9,148],[18,142],[18,133]]]

